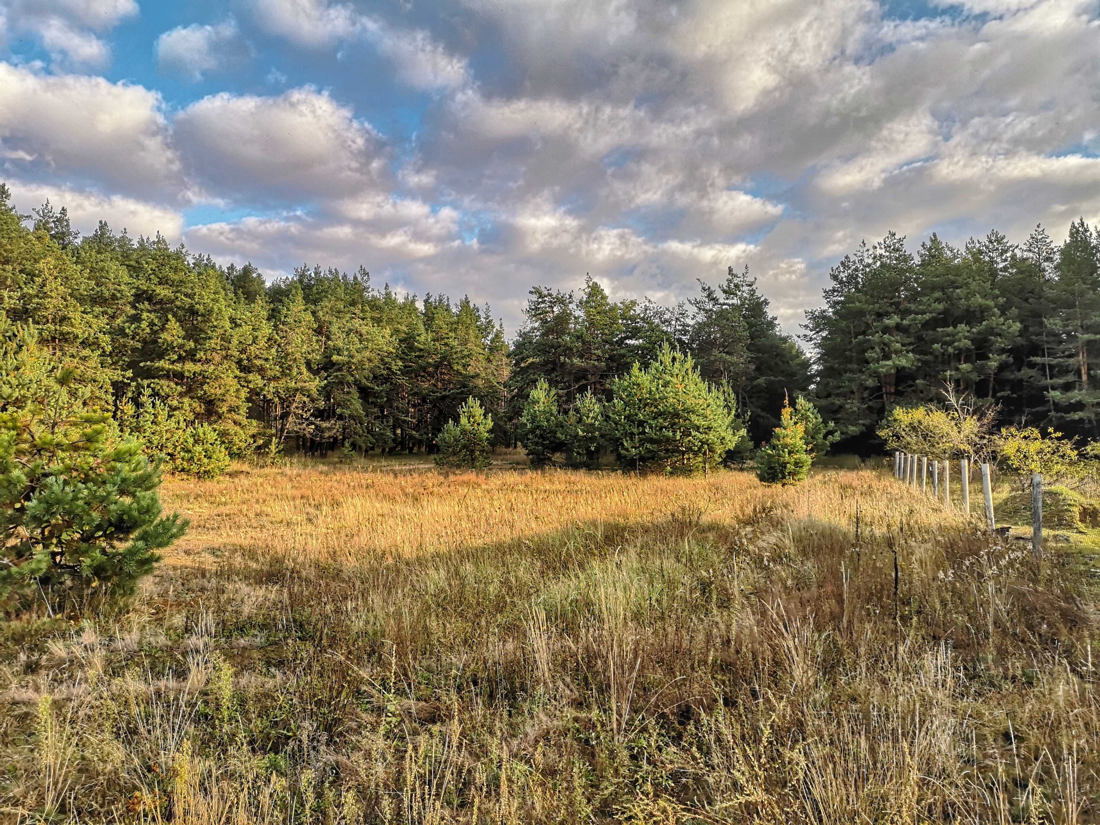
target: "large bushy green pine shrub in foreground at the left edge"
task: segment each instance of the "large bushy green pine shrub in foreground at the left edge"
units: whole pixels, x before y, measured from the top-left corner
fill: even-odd
[[[0,339],[0,603],[51,609],[124,596],[185,528],[163,518],[160,472],[111,435],[73,373],[25,328]]]

